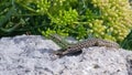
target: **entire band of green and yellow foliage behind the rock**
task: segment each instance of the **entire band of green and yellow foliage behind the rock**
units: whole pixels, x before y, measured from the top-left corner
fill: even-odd
[[[122,42],[132,28],[128,0],[4,0],[0,35],[57,33]]]

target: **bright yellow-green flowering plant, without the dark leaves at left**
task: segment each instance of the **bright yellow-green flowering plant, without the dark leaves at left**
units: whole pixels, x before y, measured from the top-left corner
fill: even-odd
[[[132,10],[127,0],[41,0],[37,4],[37,12],[51,20],[48,30],[41,30],[43,33],[121,42],[132,28]]]

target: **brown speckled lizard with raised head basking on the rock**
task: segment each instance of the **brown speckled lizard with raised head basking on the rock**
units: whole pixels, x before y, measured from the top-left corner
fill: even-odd
[[[62,42],[62,39],[59,39],[56,35],[51,35],[53,39],[56,39],[56,41]],[[64,44],[64,43],[62,43]],[[53,53],[58,55],[59,57],[65,56],[67,54],[75,54],[77,52],[80,52],[81,49],[84,47],[90,47],[90,46],[106,46],[106,47],[114,47],[114,49],[119,49],[120,45],[116,42],[112,41],[107,41],[107,40],[102,40],[102,39],[88,39],[86,41],[76,43],[76,44],[65,44],[65,47],[58,50],[58,51],[54,51]]]

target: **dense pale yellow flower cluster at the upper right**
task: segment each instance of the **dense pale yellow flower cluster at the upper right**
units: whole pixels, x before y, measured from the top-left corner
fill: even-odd
[[[132,10],[127,0],[92,0],[101,10],[101,19],[108,38],[122,41],[132,28]],[[109,34],[110,33],[110,34]]]

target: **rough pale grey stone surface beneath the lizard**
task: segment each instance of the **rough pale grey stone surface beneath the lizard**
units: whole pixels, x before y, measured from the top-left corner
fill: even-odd
[[[79,55],[58,58],[51,40],[21,35],[0,40],[0,75],[132,75],[132,52],[88,47]]]

